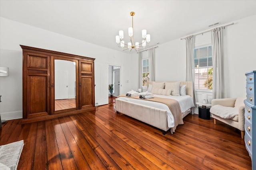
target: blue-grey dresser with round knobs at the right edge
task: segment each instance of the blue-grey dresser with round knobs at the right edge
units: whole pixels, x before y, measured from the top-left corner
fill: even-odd
[[[252,161],[252,169],[256,170],[256,71],[246,72],[245,75],[246,100],[244,100],[244,142],[251,159],[253,160],[253,155],[255,157],[255,161]],[[252,147],[252,141],[255,143],[254,147]]]

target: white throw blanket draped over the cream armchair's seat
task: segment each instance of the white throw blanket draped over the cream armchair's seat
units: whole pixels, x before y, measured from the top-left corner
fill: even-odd
[[[221,105],[214,105],[211,107],[210,112],[214,115],[222,117],[223,119],[230,119],[238,115],[238,108],[226,107]]]

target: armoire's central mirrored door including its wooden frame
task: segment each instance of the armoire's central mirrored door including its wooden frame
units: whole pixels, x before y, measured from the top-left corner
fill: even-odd
[[[54,101],[54,106],[52,106],[52,113],[78,109],[78,100],[76,99],[78,61],[61,57],[53,58],[52,75],[54,76],[51,78],[51,99]]]

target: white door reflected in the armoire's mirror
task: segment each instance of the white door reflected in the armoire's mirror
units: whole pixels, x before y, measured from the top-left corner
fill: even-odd
[[[68,99],[68,72],[55,72],[55,100]]]

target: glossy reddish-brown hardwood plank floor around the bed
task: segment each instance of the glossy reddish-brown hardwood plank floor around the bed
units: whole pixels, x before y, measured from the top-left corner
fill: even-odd
[[[18,170],[188,169],[250,170],[240,131],[189,114],[176,132],[159,129],[114,112],[96,111],[21,125],[7,121],[0,145],[24,140]]]

